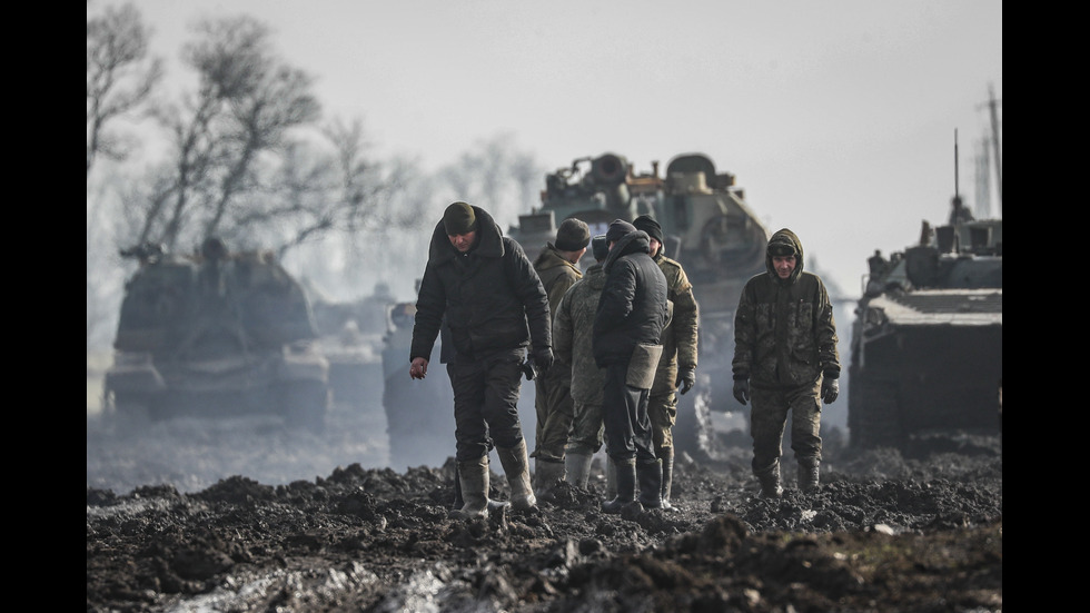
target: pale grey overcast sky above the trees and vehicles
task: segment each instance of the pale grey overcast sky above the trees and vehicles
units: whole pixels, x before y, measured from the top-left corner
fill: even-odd
[[[851,295],[875,248],[945,223],[955,129],[960,191],[975,206],[989,88],[1003,92],[994,0],[135,4],[174,76],[196,18],[265,21],[283,57],[317,77],[327,116],[363,118],[376,155],[429,170],[501,134],[549,170],[604,152],[637,172],[707,154]]]

